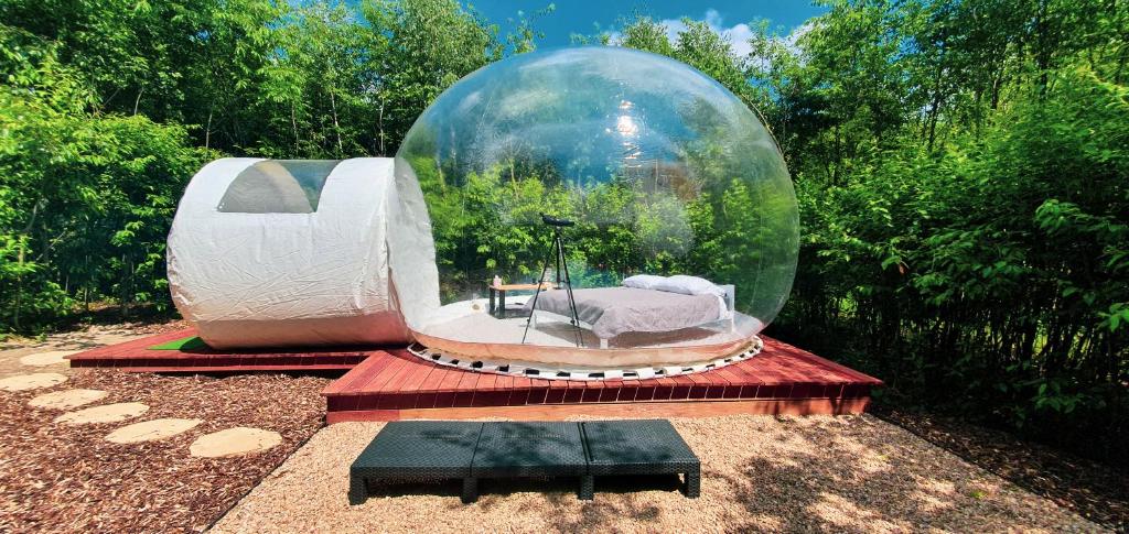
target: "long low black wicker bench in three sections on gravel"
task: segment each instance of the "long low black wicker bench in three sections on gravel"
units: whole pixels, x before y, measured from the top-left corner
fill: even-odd
[[[592,499],[593,478],[684,475],[699,495],[698,456],[666,420],[587,422],[395,421],[377,434],[349,470],[349,502],[368,496],[369,480],[462,479],[463,501],[478,499],[479,479],[577,477]]]

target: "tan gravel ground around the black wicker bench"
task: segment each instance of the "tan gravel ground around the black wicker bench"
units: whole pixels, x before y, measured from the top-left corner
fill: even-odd
[[[348,468],[383,424],[318,431],[216,525],[216,532],[1094,532],[1099,525],[870,416],[674,419],[702,459],[702,497],[676,480],[597,479],[374,488],[349,506]]]

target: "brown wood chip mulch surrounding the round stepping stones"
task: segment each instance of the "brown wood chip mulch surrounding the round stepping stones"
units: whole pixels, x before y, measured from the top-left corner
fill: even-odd
[[[54,388],[0,394],[0,532],[194,532],[205,529],[323,426],[322,377],[163,376],[75,370]],[[58,410],[27,406],[50,391],[86,388],[96,404],[143,402],[135,419],[65,426]],[[95,406],[95,404],[90,404]],[[203,419],[167,439],[113,444],[106,434],[161,417]],[[204,434],[247,426],[278,431],[262,454],[198,459]]]

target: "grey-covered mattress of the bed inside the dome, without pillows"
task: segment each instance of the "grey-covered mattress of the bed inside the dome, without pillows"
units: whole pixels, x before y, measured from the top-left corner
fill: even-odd
[[[723,319],[716,295],[684,295],[637,287],[574,290],[577,314],[599,339],[627,332],[667,332]],[[533,299],[525,304],[532,310]],[[568,292],[546,291],[537,296],[537,310],[571,317]]]

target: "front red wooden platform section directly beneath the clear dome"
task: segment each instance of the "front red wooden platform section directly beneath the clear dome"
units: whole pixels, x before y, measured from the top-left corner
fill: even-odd
[[[860,413],[882,382],[774,339],[745,362],[639,381],[549,381],[436,365],[405,350],[375,353],[322,394],[326,420],[518,420],[571,416]]]

